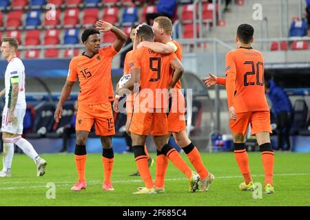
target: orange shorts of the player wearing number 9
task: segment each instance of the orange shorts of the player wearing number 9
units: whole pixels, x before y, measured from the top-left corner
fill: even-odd
[[[138,135],[167,135],[167,114],[134,112],[130,123],[130,132]]]

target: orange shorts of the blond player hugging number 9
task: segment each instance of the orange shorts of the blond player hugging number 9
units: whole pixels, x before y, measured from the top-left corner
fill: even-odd
[[[182,92],[178,91],[169,102],[168,131],[178,133],[186,129],[185,98]]]

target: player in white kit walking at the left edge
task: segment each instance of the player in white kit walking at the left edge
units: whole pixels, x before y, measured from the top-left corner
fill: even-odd
[[[11,176],[11,165],[14,155],[14,144],[23,150],[23,153],[34,159],[37,164],[37,176],[45,173],[47,165],[45,159],[39,157],[33,146],[21,137],[23,133],[23,117],[25,116],[25,67],[16,56],[18,42],[16,39],[4,38],[1,44],[3,58],[8,61],[5,74],[6,88],[0,92],[0,98],[6,96],[6,104],[2,115],[3,140],[3,169],[0,177]]]

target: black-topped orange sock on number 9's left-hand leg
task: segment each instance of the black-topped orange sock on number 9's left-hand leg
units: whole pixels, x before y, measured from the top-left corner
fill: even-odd
[[[141,178],[145,183],[146,188],[153,188],[151,173],[149,172],[149,166],[147,165],[147,155],[144,150],[145,146],[132,146],[134,150],[134,159],[136,160],[136,167],[140,173]]]

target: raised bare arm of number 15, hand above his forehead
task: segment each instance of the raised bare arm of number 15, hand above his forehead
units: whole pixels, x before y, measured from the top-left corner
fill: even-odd
[[[113,43],[113,47],[116,52],[119,52],[125,41],[127,40],[127,36],[124,32],[113,26],[112,24],[99,20],[96,22],[96,28],[100,30],[100,32],[112,32],[116,36],[116,40]]]

